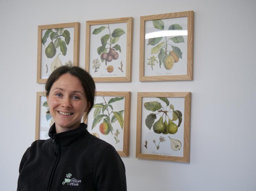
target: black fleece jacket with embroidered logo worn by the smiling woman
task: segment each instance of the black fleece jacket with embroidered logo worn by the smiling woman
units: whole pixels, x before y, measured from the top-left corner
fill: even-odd
[[[37,140],[24,153],[17,191],[126,191],[125,167],[115,148],[87,125]]]

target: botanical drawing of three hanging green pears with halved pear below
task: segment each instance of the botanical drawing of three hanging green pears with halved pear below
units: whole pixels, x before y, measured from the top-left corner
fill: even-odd
[[[182,122],[182,113],[180,110],[174,109],[174,105],[170,104],[168,98],[158,97],[157,99],[160,99],[165,104],[162,105],[158,101],[144,103],[144,108],[152,112],[147,115],[145,124],[150,131],[161,135],[159,137],[159,141],[156,141],[156,139],[146,140],[145,145],[143,146],[148,148],[148,141],[152,141],[156,149],[159,150],[161,144],[165,142],[166,139],[170,139],[171,149],[173,151],[178,151],[181,149],[181,142],[177,139],[171,138],[170,136],[178,132]],[[156,121],[157,118],[159,119]]]

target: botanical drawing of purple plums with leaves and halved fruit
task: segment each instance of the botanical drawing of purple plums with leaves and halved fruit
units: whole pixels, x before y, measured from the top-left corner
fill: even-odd
[[[99,35],[102,31],[106,30],[108,31],[107,34]],[[101,42],[101,46],[97,48],[99,58],[93,59],[94,72],[98,72],[100,67],[105,67],[108,73],[118,69],[123,72],[123,63],[122,60],[119,60],[119,54],[122,49],[118,42],[122,35],[125,34],[125,31],[121,28],[113,29],[107,24],[106,26],[94,29],[92,34],[98,35]],[[119,65],[111,64],[113,60],[119,60]]]

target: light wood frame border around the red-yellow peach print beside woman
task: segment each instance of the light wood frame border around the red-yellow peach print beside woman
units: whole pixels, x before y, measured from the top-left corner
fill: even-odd
[[[125,91],[97,91],[96,96],[124,97],[124,126],[123,126],[123,150],[117,151],[121,157],[129,156],[129,135],[130,135],[130,105],[131,92]],[[89,116],[88,116],[89,117]],[[86,119],[86,123],[88,118]]]

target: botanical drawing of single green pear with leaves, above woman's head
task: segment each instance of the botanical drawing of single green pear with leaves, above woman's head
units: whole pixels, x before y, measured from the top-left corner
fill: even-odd
[[[48,73],[49,70],[53,72],[53,70],[63,65],[61,63],[59,55],[62,54],[63,56],[66,56],[67,54],[68,45],[70,43],[70,32],[69,30],[64,30],[64,28],[48,29],[45,32],[41,42],[44,46],[46,46],[46,57],[55,57],[54,60],[51,62],[50,66],[46,64],[46,73]],[[58,49],[60,49],[61,53],[56,56]],[[65,64],[72,65],[73,63],[71,60],[69,60],[68,62],[65,62]]]

